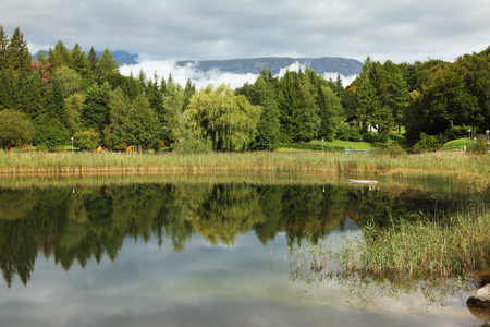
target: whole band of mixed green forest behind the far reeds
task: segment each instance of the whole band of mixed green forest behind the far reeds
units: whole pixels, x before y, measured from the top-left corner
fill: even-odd
[[[489,53],[397,64],[367,57],[346,86],[308,68],[282,76],[264,68],[254,84],[196,90],[171,75],[124,76],[109,49],[69,50],[61,40],[34,61],[21,29],[9,37],[0,25],[0,146],[273,150],[311,140],[384,143],[402,132],[409,146],[442,145],[490,129]]]

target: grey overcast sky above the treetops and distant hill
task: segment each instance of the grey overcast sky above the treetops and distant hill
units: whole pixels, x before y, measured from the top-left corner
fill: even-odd
[[[343,57],[413,62],[490,45],[489,0],[3,0],[30,52],[62,40],[152,60]]]

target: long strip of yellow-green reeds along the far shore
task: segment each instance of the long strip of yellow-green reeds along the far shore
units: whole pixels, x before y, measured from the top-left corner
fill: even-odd
[[[476,187],[489,184],[490,156],[422,154],[383,155],[321,153],[213,153],[203,155],[2,154],[0,173],[145,173],[145,172],[293,172],[314,174],[438,177]]]

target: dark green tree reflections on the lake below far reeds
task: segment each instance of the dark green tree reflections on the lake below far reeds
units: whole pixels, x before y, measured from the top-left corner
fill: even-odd
[[[127,235],[145,242],[157,238],[160,245],[168,240],[175,252],[185,249],[193,233],[212,244],[232,244],[250,230],[262,244],[278,232],[285,232],[290,246],[316,244],[336,228],[366,221],[382,226],[388,216],[413,219],[420,209],[443,215],[461,206],[458,198],[352,185],[183,182],[0,189],[0,269],[9,287],[15,276],[26,284],[39,253],[68,270],[75,261],[84,267],[105,255],[115,259]]]

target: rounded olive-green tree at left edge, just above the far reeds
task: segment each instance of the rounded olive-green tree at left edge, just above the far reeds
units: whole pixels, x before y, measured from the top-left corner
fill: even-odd
[[[30,142],[33,124],[22,112],[11,109],[0,111],[0,145],[3,149]]]

